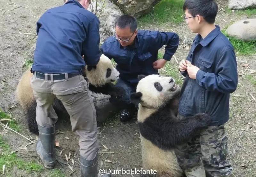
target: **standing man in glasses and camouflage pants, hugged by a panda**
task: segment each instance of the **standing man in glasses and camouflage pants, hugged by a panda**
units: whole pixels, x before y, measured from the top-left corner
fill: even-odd
[[[188,142],[175,148],[187,177],[230,176],[224,123],[228,121],[229,94],[237,87],[236,55],[228,38],[214,24],[218,6],[214,0],[186,0],[185,20],[198,33],[179,69],[186,76],[180,92],[179,114],[207,113],[211,124]],[[206,172],[206,173],[205,173]]]

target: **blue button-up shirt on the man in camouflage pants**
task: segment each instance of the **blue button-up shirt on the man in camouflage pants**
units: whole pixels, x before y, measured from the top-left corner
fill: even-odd
[[[207,113],[211,125],[228,121],[229,93],[237,87],[237,64],[233,46],[216,28],[204,39],[197,35],[187,60],[200,70],[196,79],[186,76],[180,93],[179,113],[192,116]]]

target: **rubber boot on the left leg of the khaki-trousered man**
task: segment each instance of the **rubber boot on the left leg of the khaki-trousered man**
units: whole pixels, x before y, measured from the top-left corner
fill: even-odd
[[[38,125],[39,139],[36,142],[36,152],[43,161],[44,167],[54,168],[55,165],[55,126],[42,127]]]

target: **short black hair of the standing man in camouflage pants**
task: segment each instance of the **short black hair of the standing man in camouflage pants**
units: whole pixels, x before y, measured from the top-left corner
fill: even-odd
[[[194,15],[201,15],[205,21],[212,24],[218,12],[218,5],[214,0],[186,0],[183,5],[183,10]]]

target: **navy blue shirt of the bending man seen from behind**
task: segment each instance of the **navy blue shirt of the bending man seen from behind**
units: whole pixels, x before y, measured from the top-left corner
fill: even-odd
[[[76,0],[46,11],[36,23],[32,70],[79,74],[85,64],[96,65],[101,56],[99,23]]]

